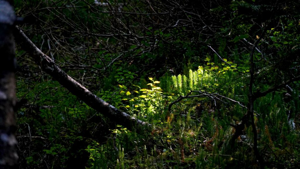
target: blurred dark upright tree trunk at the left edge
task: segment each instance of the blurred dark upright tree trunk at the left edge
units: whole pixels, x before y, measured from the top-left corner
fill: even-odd
[[[11,2],[12,3],[12,2]],[[0,0],[0,168],[16,168],[16,105],[15,43],[13,7]]]

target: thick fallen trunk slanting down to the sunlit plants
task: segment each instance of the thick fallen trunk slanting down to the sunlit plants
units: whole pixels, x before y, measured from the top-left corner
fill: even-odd
[[[84,101],[88,106],[110,118],[111,121],[121,124],[129,130],[136,128],[137,132],[143,132],[151,126],[148,122],[141,121],[131,117],[125,112],[120,111],[116,107],[105,102],[91,91],[79,84],[67,73],[61,70],[54,61],[44,54],[35,44],[24,34],[24,32],[16,26],[15,30],[16,42],[22,49],[29,53],[29,56],[38,66],[57,80],[62,86],[67,88],[72,94]]]

